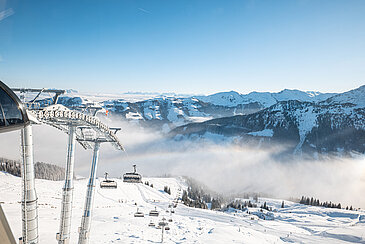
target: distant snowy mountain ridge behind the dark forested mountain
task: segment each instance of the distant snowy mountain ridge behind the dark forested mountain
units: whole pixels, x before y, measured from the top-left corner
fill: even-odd
[[[281,101],[297,100],[318,103],[333,93],[283,90],[279,93],[234,91],[209,96],[178,96],[171,94],[81,94],[70,92],[59,98],[69,107],[102,107],[110,116],[120,116],[143,125],[170,128],[213,118],[245,115],[260,111]]]

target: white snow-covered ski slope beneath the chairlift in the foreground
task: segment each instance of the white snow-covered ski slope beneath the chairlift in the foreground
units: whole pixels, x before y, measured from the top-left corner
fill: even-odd
[[[259,199],[274,211],[263,213],[250,208],[251,214],[229,209],[225,212],[186,207],[179,203],[175,213],[168,213],[168,205],[186,189],[180,178],[145,178],[154,185],[123,183],[116,180],[117,189],[100,189],[97,181],[90,243],[159,243],[158,225],[165,217],[170,230],[165,231],[166,243],[365,243],[365,212],[328,209],[300,205],[281,200]],[[86,179],[75,181],[71,242],[78,239],[81,214],[86,193]],[[61,188],[63,182],[36,180],[39,205],[40,243],[56,243],[59,228]],[[171,195],[163,187],[171,188]],[[13,229],[21,235],[21,179],[0,172],[0,201]],[[137,205],[136,205],[137,204]],[[144,218],[134,217],[137,210]],[[159,217],[150,217],[154,208]],[[273,217],[263,220],[258,216]]]

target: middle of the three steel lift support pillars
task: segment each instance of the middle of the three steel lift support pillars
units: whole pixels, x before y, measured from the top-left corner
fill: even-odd
[[[60,230],[56,235],[59,244],[70,242],[70,229],[72,217],[72,198],[73,198],[73,175],[75,161],[75,142],[76,127],[69,125],[68,130],[68,147],[66,158],[65,184],[62,189],[62,206],[60,217]]]

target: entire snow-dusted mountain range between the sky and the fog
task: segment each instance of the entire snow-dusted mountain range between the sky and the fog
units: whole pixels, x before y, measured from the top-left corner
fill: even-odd
[[[100,107],[108,116],[137,121],[174,140],[288,145],[293,153],[365,153],[365,86],[344,93],[235,91],[208,96],[79,94],[69,107]],[[101,113],[102,114],[102,113]]]

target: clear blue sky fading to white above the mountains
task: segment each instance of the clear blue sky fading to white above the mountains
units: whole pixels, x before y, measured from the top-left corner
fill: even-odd
[[[0,79],[12,87],[247,93],[365,84],[364,0],[0,0],[0,13]]]

